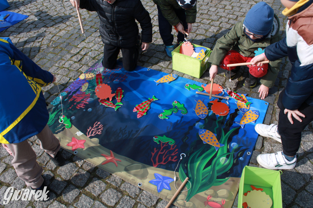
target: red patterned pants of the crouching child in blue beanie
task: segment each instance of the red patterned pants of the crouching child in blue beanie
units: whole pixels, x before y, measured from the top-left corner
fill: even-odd
[[[244,57],[239,52],[231,50],[225,55],[223,61],[220,64],[222,69],[228,71],[235,69],[236,67],[227,67],[228,64],[250,62],[253,57]],[[264,64],[262,67],[253,67],[248,65],[249,73],[254,77],[263,77],[267,73],[268,64]]]

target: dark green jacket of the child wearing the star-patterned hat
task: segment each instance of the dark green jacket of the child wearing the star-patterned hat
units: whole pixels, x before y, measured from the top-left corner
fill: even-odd
[[[176,13],[174,12],[174,8],[182,9],[182,7],[179,6],[176,0],[153,0],[153,2],[161,8],[163,16],[171,25],[175,26],[180,22]],[[186,22],[191,24],[195,23],[196,15],[197,4],[186,10]]]

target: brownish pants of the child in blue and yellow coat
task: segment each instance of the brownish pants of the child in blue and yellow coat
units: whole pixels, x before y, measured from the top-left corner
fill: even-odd
[[[60,142],[49,129],[49,126],[46,125],[36,136],[40,141],[40,148],[50,156],[55,157],[60,149]],[[29,145],[28,140],[2,145],[13,156],[12,165],[18,177],[25,181],[27,186],[39,188],[44,182],[44,178],[41,176],[43,168],[38,165],[36,153]]]

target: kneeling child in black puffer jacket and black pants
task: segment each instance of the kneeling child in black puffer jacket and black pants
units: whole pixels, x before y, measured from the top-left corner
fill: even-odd
[[[133,71],[137,66],[139,56],[140,23],[141,48],[147,50],[152,42],[152,24],[149,12],[140,0],[70,0],[72,5],[95,11],[100,18],[100,35],[104,45],[102,65],[114,69],[120,50],[123,55],[123,67]]]

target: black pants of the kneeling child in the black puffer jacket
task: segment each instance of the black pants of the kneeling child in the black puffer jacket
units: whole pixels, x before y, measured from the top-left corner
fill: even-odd
[[[139,56],[138,45],[130,48],[121,48],[105,44],[103,49],[102,65],[107,69],[114,69],[118,54],[122,51],[123,67],[126,71],[133,71],[137,66]]]

